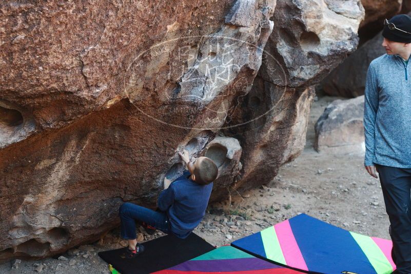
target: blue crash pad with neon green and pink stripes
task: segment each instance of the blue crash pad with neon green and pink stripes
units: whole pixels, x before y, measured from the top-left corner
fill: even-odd
[[[253,256],[305,272],[388,274],[391,241],[364,236],[306,214],[231,243]]]

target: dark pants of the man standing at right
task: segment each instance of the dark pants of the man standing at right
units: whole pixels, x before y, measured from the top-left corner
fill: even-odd
[[[411,168],[376,164],[399,273],[411,273]]]

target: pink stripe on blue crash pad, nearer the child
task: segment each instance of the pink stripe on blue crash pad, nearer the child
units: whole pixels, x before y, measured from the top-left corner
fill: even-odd
[[[277,238],[287,265],[308,271],[300,247],[292,233],[290,222],[285,220],[284,222],[276,224],[274,228],[276,229]]]

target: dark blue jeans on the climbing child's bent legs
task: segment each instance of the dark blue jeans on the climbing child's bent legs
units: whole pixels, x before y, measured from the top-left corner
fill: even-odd
[[[132,203],[122,204],[119,212],[121,219],[120,236],[125,240],[133,240],[136,238],[135,220],[145,222],[166,234],[171,232],[170,221],[165,212],[154,211]]]

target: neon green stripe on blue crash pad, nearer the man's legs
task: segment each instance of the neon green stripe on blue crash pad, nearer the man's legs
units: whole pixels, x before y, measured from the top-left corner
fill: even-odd
[[[357,244],[361,247],[365,253],[370,264],[374,267],[378,274],[388,274],[393,272],[393,267],[385,257],[384,253],[378,247],[371,237],[364,236],[352,231],[349,231]]]

